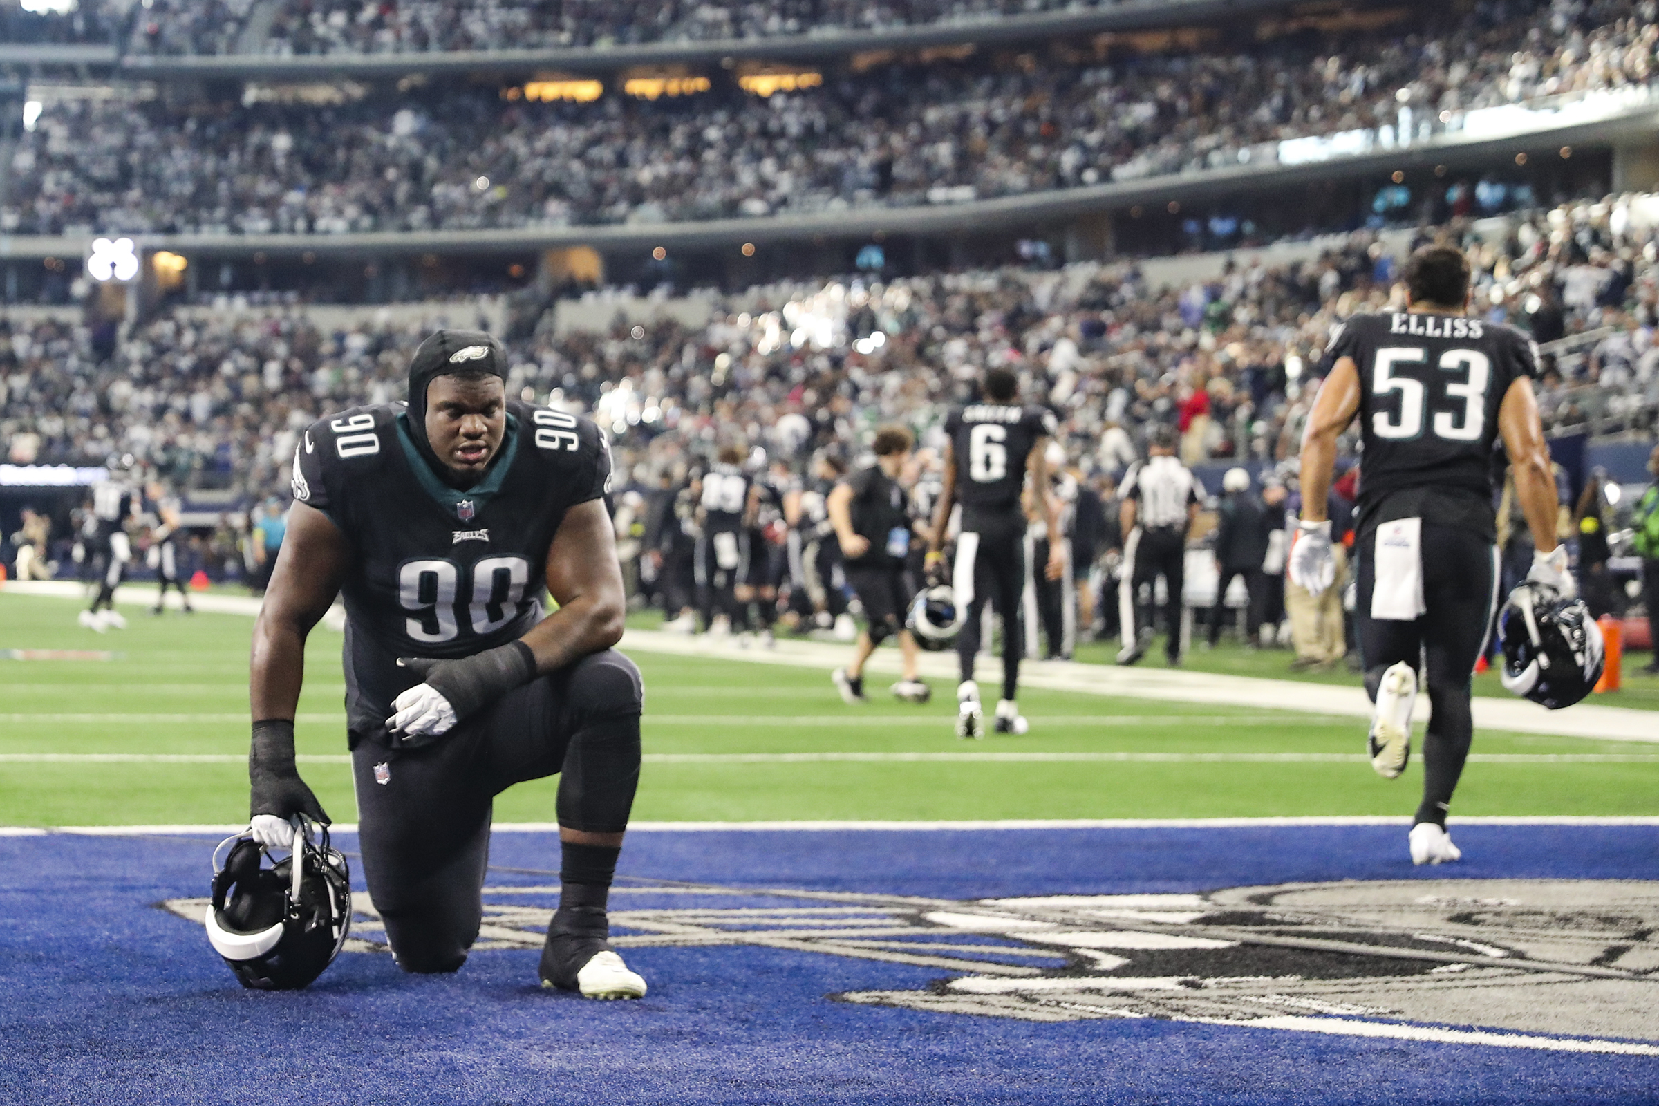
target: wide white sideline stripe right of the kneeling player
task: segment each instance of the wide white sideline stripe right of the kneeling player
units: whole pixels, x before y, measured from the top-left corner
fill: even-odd
[[[733,642],[717,642],[707,637],[664,633],[660,630],[629,630],[622,637],[624,650],[670,653],[708,662],[747,660],[750,663],[791,665],[830,672],[846,663],[846,645],[820,642],[776,643],[776,648],[743,648]],[[954,653],[922,653],[921,675],[956,682]],[[873,672],[896,673],[899,657],[889,650],[876,650],[869,658]],[[826,680],[828,683],[828,680]],[[1226,677],[1209,672],[1185,672],[1171,668],[1118,668],[1117,665],[1087,665],[1063,660],[1029,660],[1020,665],[1020,683],[1050,691],[1080,691],[1120,698],[1146,698],[1165,703],[1211,703],[1216,706],[1256,706],[1316,715],[1342,715],[1345,718],[1370,718],[1370,700],[1360,686],[1334,686],[1326,683],[1301,683],[1296,680],[1264,680],[1258,677]],[[1422,723],[1428,711],[1428,696],[1417,696]],[[1550,711],[1536,703],[1518,698],[1477,696],[1473,703],[1475,728],[1481,731],[1541,733],[1564,738],[1596,738],[1601,741],[1659,743],[1659,711],[1629,706],[1601,706],[1579,703],[1569,710]]]

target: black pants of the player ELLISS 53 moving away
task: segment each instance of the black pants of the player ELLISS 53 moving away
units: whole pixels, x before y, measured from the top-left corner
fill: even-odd
[[[1418,822],[1445,826],[1452,793],[1475,736],[1470,680],[1498,600],[1498,557],[1485,537],[1453,526],[1423,522],[1423,607],[1415,622],[1372,618],[1377,582],[1375,531],[1359,541],[1359,590],[1354,620],[1365,690],[1377,698],[1382,673],[1399,662],[1420,668],[1432,716],[1423,738],[1423,801]]]

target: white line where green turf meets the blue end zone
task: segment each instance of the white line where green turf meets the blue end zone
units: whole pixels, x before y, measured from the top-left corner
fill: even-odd
[[[1005,819],[1005,821],[823,821],[823,822],[630,822],[629,832],[957,832],[964,829],[1294,829],[1319,826],[1410,826],[1408,816],[1359,814],[1359,816],[1309,816],[1309,817],[1105,817],[1105,819]],[[1659,826],[1659,817],[1611,814],[1493,814],[1458,817],[1453,826]],[[36,832],[91,834],[98,837],[168,837],[234,834],[247,824],[212,826],[53,826],[36,831],[18,827],[22,836]],[[552,834],[557,822],[496,822],[501,834]],[[5,832],[0,829],[0,832]],[[357,822],[333,822],[332,834],[355,834]]]

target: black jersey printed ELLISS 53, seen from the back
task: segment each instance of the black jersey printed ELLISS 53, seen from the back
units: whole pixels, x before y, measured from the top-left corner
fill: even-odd
[[[1516,378],[1536,375],[1533,342],[1463,315],[1380,312],[1335,328],[1326,371],[1344,357],[1360,380],[1360,509],[1417,488],[1490,502],[1498,408]]]

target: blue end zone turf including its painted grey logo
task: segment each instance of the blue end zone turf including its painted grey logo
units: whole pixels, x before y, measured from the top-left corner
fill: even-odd
[[[1656,1101],[1659,884],[1603,880],[1659,880],[1659,827],[1453,832],[639,832],[635,1003],[536,987],[551,834],[496,836],[458,975],[365,912],[300,993],[181,902],[214,841],[0,837],[0,1101]]]

